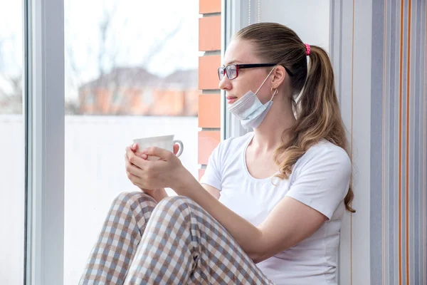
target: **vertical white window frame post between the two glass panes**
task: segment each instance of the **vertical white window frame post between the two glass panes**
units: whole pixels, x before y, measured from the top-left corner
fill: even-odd
[[[26,284],[63,284],[64,4],[24,0]]]

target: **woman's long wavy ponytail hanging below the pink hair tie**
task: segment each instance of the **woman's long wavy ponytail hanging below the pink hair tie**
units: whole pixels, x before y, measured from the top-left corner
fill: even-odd
[[[294,101],[297,121],[290,131],[291,139],[275,151],[275,162],[280,165],[278,177],[282,179],[289,177],[292,165],[321,139],[342,147],[348,153],[330,58],[326,51],[318,46],[310,46],[309,58],[307,80],[298,102]],[[285,160],[280,162],[279,157],[285,157]],[[344,198],[345,207],[350,212],[355,212],[351,206],[353,197],[350,183]]]

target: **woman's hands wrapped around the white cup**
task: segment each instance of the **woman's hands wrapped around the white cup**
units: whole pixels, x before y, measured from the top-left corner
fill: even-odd
[[[174,153],[178,150],[179,145],[174,145]],[[127,177],[150,196],[164,187],[174,187],[182,182],[187,173],[189,174],[174,153],[159,147],[150,147],[142,152],[137,150],[136,145],[127,147],[125,155]],[[147,160],[148,155],[160,159],[150,161]]]

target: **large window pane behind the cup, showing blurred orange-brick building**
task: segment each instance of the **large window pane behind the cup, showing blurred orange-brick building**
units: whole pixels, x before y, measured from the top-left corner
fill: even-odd
[[[112,199],[137,191],[123,158],[132,139],[174,134],[198,175],[198,4],[64,1],[65,285],[78,283]]]

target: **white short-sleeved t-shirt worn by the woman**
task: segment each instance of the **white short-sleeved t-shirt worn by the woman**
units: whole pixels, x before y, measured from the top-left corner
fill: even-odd
[[[315,234],[257,266],[275,284],[337,284],[339,229],[352,171],[347,152],[322,140],[297,160],[288,180],[256,179],[245,158],[252,138],[248,133],[221,142],[209,157],[201,184],[220,190],[219,201],[255,226],[285,196],[325,214],[328,221]]]

